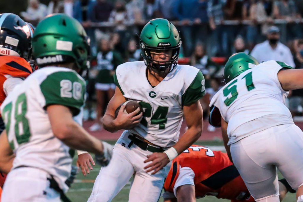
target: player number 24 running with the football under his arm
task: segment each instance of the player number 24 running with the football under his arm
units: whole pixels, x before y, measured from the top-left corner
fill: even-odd
[[[126,62],[116,69],[115,95],[103,117],[105,130],[125,129],[114,146],[112,160],[102,167],[89,202],[111,201],[134,175],[130,202],[158,201],[169,162],[201,135],[205,80],[195,67],[177,65],[181,40],[166,19],[153,19],[142,29],[144,61]],[[121,106],[135,100],[143,108],[125,114]],[[139,113],[139,114],[138,114]],[[183,117],[188,130],[179,139]]]

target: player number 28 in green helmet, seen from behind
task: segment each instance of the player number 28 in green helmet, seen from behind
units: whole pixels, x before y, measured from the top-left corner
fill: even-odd
[[[73,119],[85,103],[78,72],[88,66],[89,41],[77,20],[55,14],[38,24],[32,47],[39,69],[0,107],[6,129],[0,136],[0,171],[9,172],[2,202],[69,201],[64,195],[72,167],[69,147],[106,161],[102,142]]]

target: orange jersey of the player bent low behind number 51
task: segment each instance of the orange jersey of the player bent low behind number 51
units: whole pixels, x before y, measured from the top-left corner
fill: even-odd
[[[254,201],[226,153],[192,145],[172,161],[164,183],[165,191],[173,192],[180,167],[190,167],[195,173],[197,198],[212,195],[233,202]]]

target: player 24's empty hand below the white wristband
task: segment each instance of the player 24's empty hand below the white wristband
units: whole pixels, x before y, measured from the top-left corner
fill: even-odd
[[[144,163],[152,161],[152,163],[148,164],[144,167],[144,170],[146,173],[152,172],[151,174],[156,174],[159,170],[161,170],[163,167],[165,167],[169,163],[169,159],[165,153],[152,153],[151,155],[146,156],[147,159],[144,161]],[[149,169],[148,169],[149,168]],[[147,169],[147,170],[146,170]]]

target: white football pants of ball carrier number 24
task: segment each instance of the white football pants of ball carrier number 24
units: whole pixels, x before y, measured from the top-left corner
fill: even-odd
[[[102,167],[97,176],[92,194],[88,202],[111,201],[133,176],[129,192],[129,202],[157,202],[168,174],[171,163],[168,163],[158,173],[151,175],[143,169],[151,162],[143,163],[147,155],[152,152],[140,149],[135,144],[128,147],[131,142],[125,137],[120,137],[114,146],[112,159],[107,167]]]

